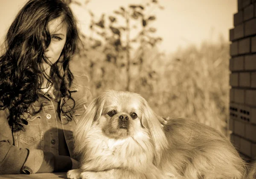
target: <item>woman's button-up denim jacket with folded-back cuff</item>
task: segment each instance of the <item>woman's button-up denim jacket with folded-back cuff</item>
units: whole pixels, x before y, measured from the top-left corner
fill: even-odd
[[[71,158],[74,158],[73,129],[92,99],[90,90],[86,87],[87,82],[86,76],[74,75],[73,84],[69,89],[71,97],[76,102],[75,108],[68,113],[72,120],[68,121],[68,117],[62,112],[59,114]],[[67,160],[72,161],[68,156],[58,156],[58,128],[55,115],[57,109],[53,105],[53,100],[47,95],[39,98],[38,101],[43,107],[35,115],[27,114],[28,125],[24,125],[25,131],[12,130],[7,120],[8,110],[0,110],[0,174],[37,173],[42,165],[43,172],[53,172],[63,167]],[[69,110],[72,106],[69,101],[71,102],[68,100],[64,104],[64,109]],[[60,104],[63,102],[64,99],[61,97]],[[29,111],[38,111],[39,108],[39,102],[35,102]]]

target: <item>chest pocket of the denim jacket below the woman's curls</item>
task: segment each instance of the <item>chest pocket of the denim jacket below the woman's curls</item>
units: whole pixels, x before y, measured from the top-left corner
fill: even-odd
[[[23,148],[42,149],[42,128],[41,116],[28,118],[28,125],[24,126],[25,131],[17,132],[18,146]]]

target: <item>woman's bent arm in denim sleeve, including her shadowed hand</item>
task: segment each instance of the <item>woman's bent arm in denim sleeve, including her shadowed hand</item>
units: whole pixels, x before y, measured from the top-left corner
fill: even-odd
[[[76,161],[69,156],[14,146],[7,116],[6,110],[0,110],[0,174],[50,173],[76,168]]]

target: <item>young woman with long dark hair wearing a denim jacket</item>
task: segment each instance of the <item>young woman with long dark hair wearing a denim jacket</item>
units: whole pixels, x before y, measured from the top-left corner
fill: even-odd
[[[0,57],[0,174],[78,168],[73,129],[92,99],[69,68],[78,40],[62,0],[29,0],[17,14]]]

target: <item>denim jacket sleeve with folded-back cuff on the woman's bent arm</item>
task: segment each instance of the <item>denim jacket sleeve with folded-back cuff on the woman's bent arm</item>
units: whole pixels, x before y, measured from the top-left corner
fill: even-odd
[[[37,172],[44,159],[43,151],[14,146],[7,116],[7,110],[0,111],[0,173],[26,173],[27,169]]]

